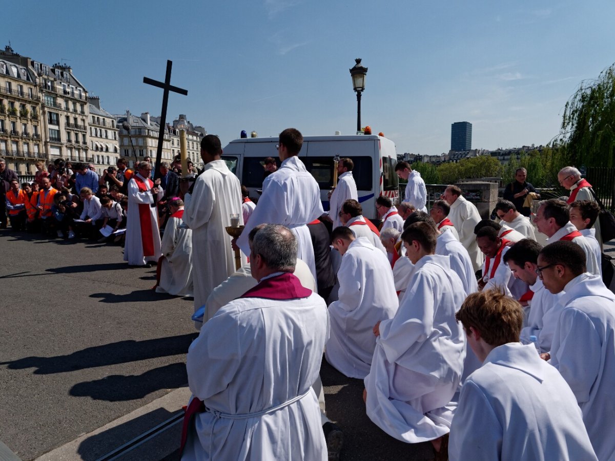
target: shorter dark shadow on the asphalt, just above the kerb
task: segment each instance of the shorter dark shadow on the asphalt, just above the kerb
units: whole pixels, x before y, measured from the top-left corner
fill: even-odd
[[[187,382],[186,364],[182,361],[154,368],[143,374],[114,374],[103,379],[80,382],[71,388],[69,394],[108,402],[140,400],[157,390],[175,389]]]

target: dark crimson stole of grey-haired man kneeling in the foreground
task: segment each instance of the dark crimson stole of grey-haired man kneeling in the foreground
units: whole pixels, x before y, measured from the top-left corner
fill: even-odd
[[[290,299],[306,298],[312,294],[312,290],[308,290],[299,279],[288,272],[276,277],[266,278],[261,280],[258,285],[246,291],[240,297],[260,297],[263,299],[274,299],[276,301],[290,301]],[[192,418],[197,414],[205,411],[205,405],[202,400],[194,397],[186,407],[184,415],[184,424],[181,430],[181,448],[180,454],[184,451],[186,440],[188,439],[188,430],[191,427]]]

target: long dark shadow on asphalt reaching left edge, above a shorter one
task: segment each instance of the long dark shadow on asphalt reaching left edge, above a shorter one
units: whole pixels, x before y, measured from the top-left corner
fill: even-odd
[[[198,333],[146,339],[145,341],[119,341],[87,347],[69,355],[56,357],[24,357],[0,362],[9,369],[34,368],[33,374],[64,373],[85,368],[129,363],[149,358],[169,357],[188,353],[188,347]]]

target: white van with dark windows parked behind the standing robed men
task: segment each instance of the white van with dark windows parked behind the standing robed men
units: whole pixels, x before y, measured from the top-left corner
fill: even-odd
[[[263,186],[266,157],[276,159],[278,138],[242,138],[231,141],[222,159],[244,184],[250,197],[258,197]],[[333,158],[349,157],[354,162],[352,176],[357,183],[359,202],[366,218],[378,219],[376,198],[386,195],[399,202],[399,179],[395,173],[397,153],[393,141],[376,135],[305,136],[299,157],[320,186],[320,200],[329,210],[328,192],[333,186]]]

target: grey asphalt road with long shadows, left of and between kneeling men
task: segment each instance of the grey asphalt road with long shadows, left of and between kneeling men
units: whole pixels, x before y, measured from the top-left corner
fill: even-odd
[[[0,441],[23,460],[184,387],[196,337],[191,299],[154,293],[154,270],[127,267],[121,247],[34,237],[0,230]],[[321,377],[343,461],[433,459],[431,444],[402,443],[368,419],[362,381],[326,361]],[[148,414],[145,425],[168,417]]]

